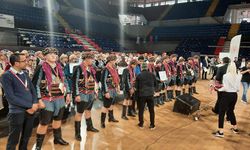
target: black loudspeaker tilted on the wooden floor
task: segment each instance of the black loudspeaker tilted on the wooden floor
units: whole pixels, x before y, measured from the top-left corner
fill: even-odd
[[[184,94],[176,97],[174,103],[174,112],[185,115],[192,114],[200,108],[200,101],[189,94]]]

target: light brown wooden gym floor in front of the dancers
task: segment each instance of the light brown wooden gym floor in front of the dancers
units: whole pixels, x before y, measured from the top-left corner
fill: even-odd
[[[200,80],[197,84],[198,95],[201,101],[200,119],[193,120],[193,116],[185,116],[172,112],[174,102],[155,108],[156,129],[151,131],[149,115],[145,112],[145,128],[137,127],[138,118],[122,120],[121,105],[116,105],[115,117],[119,123],[108,123],[106,129],[100,129],[101,103],[96,101],[92,118],[94,126],[100,129],[99,133],[86,133],[85,121],[82,122],[82,142],[74,140],[74,119],[71,117],[62,127],[62,134],[69,146],[53,144],[53,134],[46,135],[43,150],[249,150],[250,148],[250,104],[243,104],[241,93],[238,95],[235,112],[240,134],[230,131],[230,124],[225,122],[225,138],[220,139],[212,135],[217,129],[217,116],[211,111],[216,100],[216,93],[209,92],[209,81]],[[242,91],[242,89],[241,89]],[[248,94],[250,98],[250,94]],[[249,99],[250,100],[250,99]],[[28,149],[32,149],[36,140],[35,129],[30,139]],[[0,139],[0,149],[6,147],[7,138]]]

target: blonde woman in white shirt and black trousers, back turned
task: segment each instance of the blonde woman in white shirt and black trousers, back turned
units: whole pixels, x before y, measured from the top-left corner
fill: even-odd
[[[219,110],[219,130],[214,133],[216,137],[224,137],[224,117],[227,113],[227,119],[233,126],[231,130],[238,133],[236,117],[234,114],[234,107],[237,102],[237,92],[240,89],[241,74],[237,74],[235,63],[228,65],[227,73],[223,76],[223,87],[218,89],[221,92],[221,99],[218,101]]]

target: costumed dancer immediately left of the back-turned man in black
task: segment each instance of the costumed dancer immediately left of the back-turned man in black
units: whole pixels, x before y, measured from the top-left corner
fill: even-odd
[[[128,107],[128,116],[135,117],[135,114],[132,111],[132,101],[134,95],[134,87],[135,87],[135,72],[134,68],[137,65],[137,60],[133,59],[130,61],[129,66],[123,70],[122,73],[122,81],[123,81],[123,94],[124,94],[124,101],[122,107],[122,119],[128,120],[127,114],[127,107]]]

